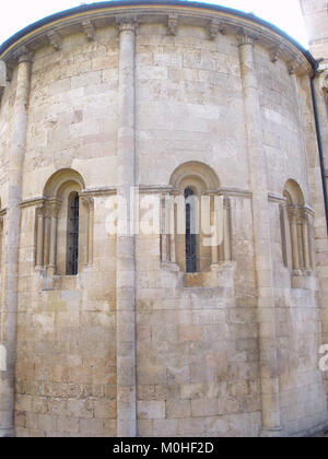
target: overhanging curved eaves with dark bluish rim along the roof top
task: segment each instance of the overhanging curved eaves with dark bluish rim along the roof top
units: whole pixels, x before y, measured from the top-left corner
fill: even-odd
[[[281,31],[279,27],[269,22],[257,17],[251,13],[245,13],[235,9],[220,7],[216,4],[201,3],[194,1],[105,1],[91,4],[81,4],[70,10],[61,11],[50,16],[44,17],[27,27],[21,30],[0,46],[0,60],[10,62],[15,51],[23,46],[27,46],[32,51],[44,45],[47,40],[47,33],[56,31],[63,36],[79,32],[83,21],[94,21],[95,23],[110,25],[115,23],[117,15],[133,15],[138,22],[142,23],[143,17],[152,15],[161,21],[167,14],[176,14],[184,21],[198,20],[199,24],[206,25],[207,21],[218,19],[222,24],[230,27],[245,27],[245,31],[259,34],[266,42],[267,46],[274,48],[282,47],[282,51],[288,57],[294,52],[296,61],[305,59],[312,68],[312,72],[316,72],[318,63],[315,58],[300,43],[290,35]],[[147,22],[147,21],[145,21]],[[270,45],[270,40],[272,42]],[[278,45],[278,44],[283,44]],[[282,52],[282,54],[283,54]]]

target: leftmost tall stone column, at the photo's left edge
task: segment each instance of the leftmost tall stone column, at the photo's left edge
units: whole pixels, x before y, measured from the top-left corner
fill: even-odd
[[[4,305],[2,343],[7,349],[7,372],[0,373],[0,437],[14,435],[14,372],[16,354],[19,248],[22,199],[22,169],[26,144],[27,106],[31,84],[31,55],[24,49],[17,67],[13,129],[8,168],[8,211],[4,260]]]

